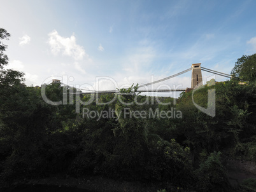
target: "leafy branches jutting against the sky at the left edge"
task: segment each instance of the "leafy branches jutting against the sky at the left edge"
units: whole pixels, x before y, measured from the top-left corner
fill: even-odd
[[[8,40],[10,34],[3,28],[0,28],[0,69],[3,69],[3,65],[8,64],[8,57],[4,54],[4,51],[7,48],[7,45],[4,45],[1,41],[2,39]]]

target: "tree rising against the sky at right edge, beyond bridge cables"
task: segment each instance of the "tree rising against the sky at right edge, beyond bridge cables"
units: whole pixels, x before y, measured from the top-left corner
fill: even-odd
[[[256,80],[256,53],[238,58],[231,74],[243,81]]]

